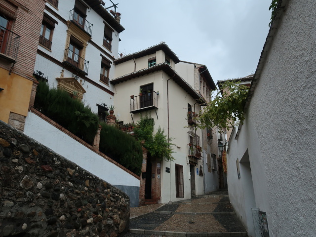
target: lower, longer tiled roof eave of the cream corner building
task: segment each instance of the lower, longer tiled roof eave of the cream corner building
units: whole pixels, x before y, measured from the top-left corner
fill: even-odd
[[[186,82],[184,79],[182,79],[179,74],[171,68],[167,63],[160,63],[156,64],[153,67],[145,68],[142,70],[139,70],[137,72],[129,73],[124,76],[115,78],[110,80],[112,84],[118,84],[120,82],[124,82],[130,79],[135,79],[141,76],[145,76],[150,73],[154,73],[157,71],[164,71],[170,78],[172,78],[181,88],[183,88],[187,93],[189,93],[195,100],[201,100],[201,102],[205,103],[205,100],[202,96],[200,96],[195,89],[192,88],[188,82]]]

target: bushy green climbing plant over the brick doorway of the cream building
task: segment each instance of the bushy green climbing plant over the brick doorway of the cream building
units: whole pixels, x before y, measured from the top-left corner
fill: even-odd
[[[140,119],[134,127],[134,134],[136,138],[141,141],[144,140],[144,147],[148,150],[149,154],[152,157],[158,158],[159,160],[170,161],[174,158],[172,154],[174,153],[171,143],[172,138],[169,138],[164,134],[164,129],[160,126],[158,127],[157,132],[154,134],[154,125],[155,121],[151,118],[151,115],[141,115]]]

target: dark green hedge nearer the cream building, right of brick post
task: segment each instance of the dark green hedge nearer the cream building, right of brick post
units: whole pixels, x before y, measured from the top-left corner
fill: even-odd
[[[141,173],[143,150],[139,142],[115,126],[100,122],[100,152],[111,157],[137,175]]]

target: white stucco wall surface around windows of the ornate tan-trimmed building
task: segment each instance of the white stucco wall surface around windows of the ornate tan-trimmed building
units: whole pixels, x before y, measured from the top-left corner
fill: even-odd
[[[50,7],[53,11],[55,11],[57,14],[59,14],[61,17],[63,17],[65,20],[69,20],[69,11],[74,8],[75,0],[59,1],[58,10],[52,7],[49,3],[46,3],[46,5]],[[55,24],[55,28],[53,31],[51,50],[47,50],[46,48],[40,46],[40,44],[38,48],[44,53],[58,60],[59,62],[62,62],[64,59],[64,50],[66,47],[68,27],[63,22],[61,22],[58,18],[56,18],[54,15],[49,13],[47,10],[45,10],[45,13],[47,13],[49,16],[55,19],[58,22],[58,24]],[[117,57],[118,56],[118,38],[119,38],[118,32],[115,31],[112,34],[112,37],[113,37],[112,51],[110,51],[102,45],[103,33],[104,33],[103,18],[99,16],[93,9],[90,9],[90,10],[87,9],[86,14],[87,14],[86,20],[89,21],[91,24],[93,24],[92,41],[97,43],[101,48],[103,48],[110,55]],[[113,91],[114,87],[112,84],[106,85],[105,83],[100,81],[100,68],[101,68],[101,60],[102,60],[102,57],[100,56],[100,54],[102,54],[105,58],[112,61],[110,57],[108,57],[106,54],[101,52],[91,43],[87,44],[86,51],[85,51],[85,58],[84,58],[86,61],[89,61],[89,69],[88,69],[87,78],[102,85],[104,88],[109,89],[110,91]],[[60,77],[62,69],[63,67],[58,66],[55,63],[51,62],[50,60],[37,54],[34,71],[36,72],[38,70],[44,73],[44,76],[48,77],[48,83],[51,87],[57,86],[56,78]],[[90,105],[93,112],[97,113],[98,108],[96,104],[98,103],[105,103],[108,106],[113,105],[113,96],[111,94],[96,87],[95,85],[89,83],[88,81],[84,81],[84,79],[80,77],[80,74],[78,74],[78,76],[79,76],[79,81],[81,79],[82,83],[84,83],[83,88],[86,90],[86,93],[83,94],[82,102],[84,102],[85,105]],[[65,78],[73,77],[73,74],[64,68],[64,77]],[[113,79],[114,77],[115,77],[115,65],[111,64],[111,68],[109,71],[109,78]]]

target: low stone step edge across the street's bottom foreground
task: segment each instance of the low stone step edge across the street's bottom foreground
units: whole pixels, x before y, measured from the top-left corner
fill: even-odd
[[[158,236],[175,236],[175,237],[247,237],[247,232],[218,232],[218,233],[185,233],[173,231],[155,231],[129,229],[130,233],[140,235],[158,235]]]

